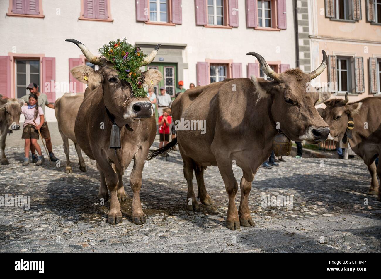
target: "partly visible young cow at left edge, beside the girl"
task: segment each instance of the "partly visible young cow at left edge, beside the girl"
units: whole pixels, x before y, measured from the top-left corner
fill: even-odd
[[[3,99],[0,94],[0,147],[2,165],[8,165],[9,162],[5,156],[5,140],[10,130],[20,130],[21,107],[25,101],[22,99]]]

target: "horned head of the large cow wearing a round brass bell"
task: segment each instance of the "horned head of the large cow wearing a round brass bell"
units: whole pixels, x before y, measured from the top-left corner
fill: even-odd
[[[274,79],[266,81],[251,76],[255,84],[258,99],[272,98],[271,114],[280,130],[293,141],[324,141],[330,129],[319,116],[315,105],[327,100],[330,93],[316,92],[311,87],[311,79],[320,75],[327,65],[327,55],[323,52],[323,62],[312,73],[305,74],[299,69],[287,70],[284,73],[275,73],[259,54],[255,56],[263,71]]]

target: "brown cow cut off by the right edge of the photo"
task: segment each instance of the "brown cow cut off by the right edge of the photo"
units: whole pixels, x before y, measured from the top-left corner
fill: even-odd
[[[377,175],[381,178],[381,163],[376,168],[375,159],[381,154],[381,97],[368,97],[354,103],[345,99],[332,99],[325,102],[321,111],[324,121],[330,126],[329,140],[348,139],[352,150],[359,155],[372,177],[369,194],[380,198]],[[351,123],[354,122],[354,128]],[[349,126],[349,128],[348,128]],[[345,141],[345,138],[344,138]]]

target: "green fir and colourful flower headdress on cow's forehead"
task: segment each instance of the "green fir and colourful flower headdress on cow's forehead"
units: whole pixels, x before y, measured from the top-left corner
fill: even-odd
[[[133,46],[123,40],[110,41],[98,49],[101,57],[103,56],[109,60],[115,70],[118,71],[120,79],[130,83],[132,87],[132,94],[135,97],[144,97],[146,92],[143,88],[144,75],[140,70],[146,54],[143,54],[138,46]]]

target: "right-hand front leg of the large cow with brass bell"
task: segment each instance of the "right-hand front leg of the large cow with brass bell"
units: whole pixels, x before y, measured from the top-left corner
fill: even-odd
[[[253,182],[254,175],[243,171],[243,176],[241,179],[241,202],[239,204],[239,222],[242,227],[254,227],[254,221],[251,218],[248,197],[251,190],[251,182]]]

